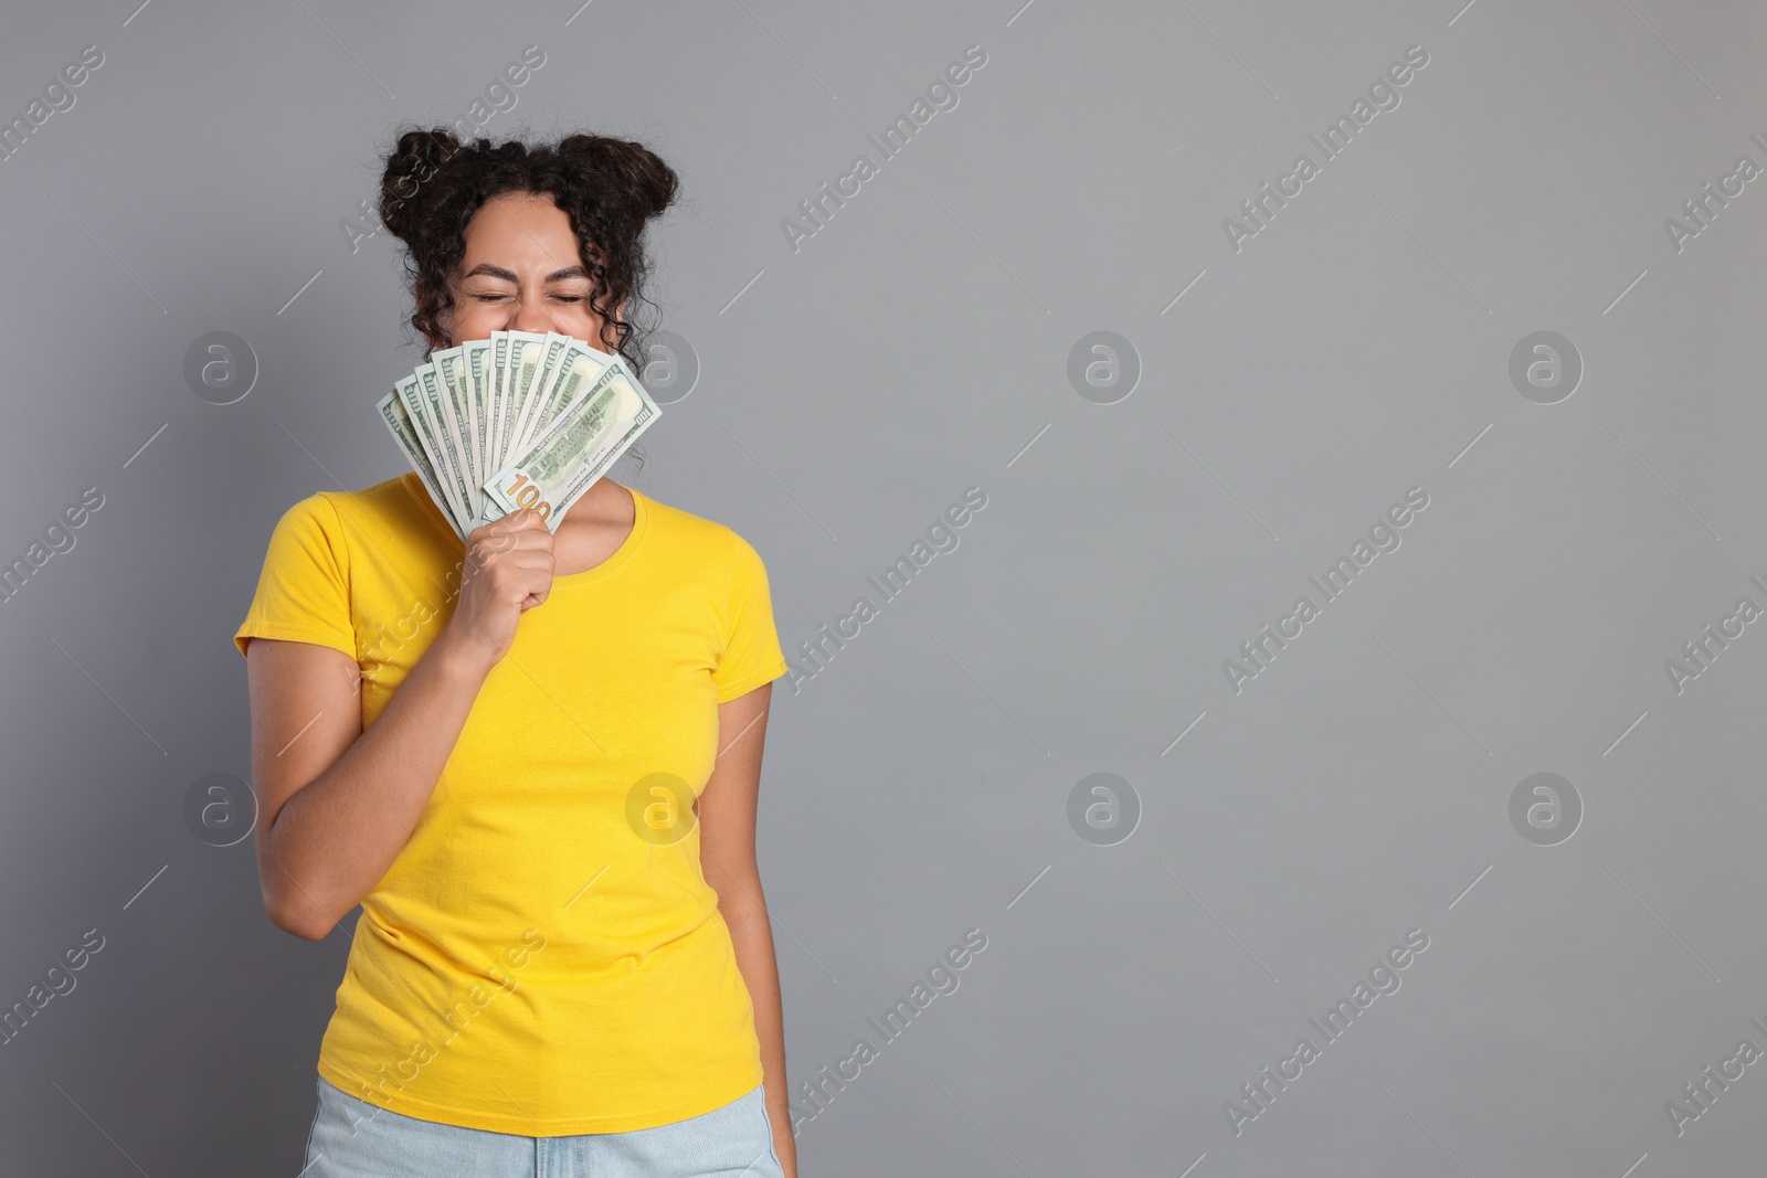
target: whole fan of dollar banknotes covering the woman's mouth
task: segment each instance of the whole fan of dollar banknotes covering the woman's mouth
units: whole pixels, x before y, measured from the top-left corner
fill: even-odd
[[[557,332],[436,351],[378,408],[461,539],[523,507],[557,532],[661,413],[618,355]]]

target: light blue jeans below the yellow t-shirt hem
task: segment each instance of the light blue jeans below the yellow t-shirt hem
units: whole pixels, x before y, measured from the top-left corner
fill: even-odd
[[[521,1137],[403,1116],[318,1079],[300,1178],[785,1178],[760,1086],[656,1129]]]

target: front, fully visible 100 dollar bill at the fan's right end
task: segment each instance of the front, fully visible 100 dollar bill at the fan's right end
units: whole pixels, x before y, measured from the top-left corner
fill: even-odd
[[[502,509],[491,517],[532,507],[546,521],[546,528],[557,533],[571,503],[661,413],[626,362],[617,355],[608,357],[595,383],[553,417],[521,457],[486,480],[486,512],[493,512],[491,503]]]

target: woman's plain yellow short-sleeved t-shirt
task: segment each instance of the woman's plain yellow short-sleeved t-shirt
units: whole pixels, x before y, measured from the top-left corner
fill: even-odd
[[[762,1083],[689,807],[717,705],[786,671],[767,570],[724,525],[633,500],[631,537],[521,615],[362,899],[318,1058],[350,1095],[548,1137],[666,1125]],[[235,645],[348,653],[366,728],[452,616],[461,555],[415,473],[316,493],[276,525]]]

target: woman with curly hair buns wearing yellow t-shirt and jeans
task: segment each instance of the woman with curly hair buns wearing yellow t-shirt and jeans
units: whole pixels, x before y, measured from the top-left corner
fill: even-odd
[[[618,140],[403,134],[380,210],[412,325],[640,371],[675,187]],[[557,533],[523,510],[461,544],[408,472],[288,509],[235,643],[265,910],[320,940],[362,906],[306,1178],[795,1176],[755,862],[786,662],[740,535],[604,477]]]

